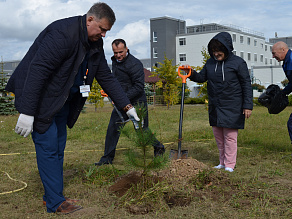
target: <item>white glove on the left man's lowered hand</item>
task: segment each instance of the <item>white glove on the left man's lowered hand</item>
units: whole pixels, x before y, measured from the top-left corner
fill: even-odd
[[[15,132],[26,138],[32,132],[33,121],[33,116],[28,116],[21,113],[15,126]]]

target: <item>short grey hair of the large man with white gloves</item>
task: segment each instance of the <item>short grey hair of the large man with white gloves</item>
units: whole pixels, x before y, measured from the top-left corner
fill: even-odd
[[[94,16],[98,20],[106,18],[111,25],[113,25],[116,21],[114,11],[110,6],[103,2],[98,2],[92,5],[92,7],[87,12],[87,16]]]

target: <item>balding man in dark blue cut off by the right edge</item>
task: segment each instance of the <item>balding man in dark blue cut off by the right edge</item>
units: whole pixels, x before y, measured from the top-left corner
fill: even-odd
[[[288,85],[281,90],[279,95],[289,95],[292,92],[292,52],[286,43],[279,41],[273,45],[272,55],[278,62],[283,61],[282,68],[289,81]],[[288,119],[287,127],[292,143],[292,113]]]

